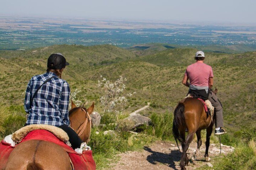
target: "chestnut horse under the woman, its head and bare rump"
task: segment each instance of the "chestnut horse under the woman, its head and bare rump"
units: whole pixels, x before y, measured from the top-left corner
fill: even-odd
[[[94,103],[88,108],[76,107],[72,102],[69,111],[71,127],[76,131],[82,141],[90,138],[91,118]],[[87,112],[87,113],[86,113]],[[18,144],[11,152],[6,170],[70,170],[70,159],[62,147],[57,144],[30,140]]]

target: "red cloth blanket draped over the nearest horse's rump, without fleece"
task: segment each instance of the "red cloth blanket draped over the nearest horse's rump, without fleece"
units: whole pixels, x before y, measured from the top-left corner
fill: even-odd
[[[61,146],[66,152],[69,154],[71,161],[73,162],[75,170],[94,170],[96,169],[96,164],[92,157],[91,150],[83,151],[82,155],[76,153],[71,147],[66,145],[63,141],[57,138],[54,134],[47,130],[34,130],[31,131],[27,136],[21,141],[29,141],[29,140],[40,140],[40,141],[48,141],[53,142],[59,146]],[[20,143],[19,143],[20,144]],[[19,145],[17,144],[17,145]],[[10,146],[10,144],[5,143],[4,140],[0,143],[0,169],[5,169],[6,163],[8,161],[8,157],[11,151],[17,146]]]

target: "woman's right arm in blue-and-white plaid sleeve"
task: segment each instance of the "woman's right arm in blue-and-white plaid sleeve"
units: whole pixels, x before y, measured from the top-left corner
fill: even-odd
[[[59,111],[61,113],[61,117],[66,125],[70,125],[69,122],[69,96],[70,96],[70,88],[69,83],[65,82],[62,85],[61,98],[60,98],[60,106]]]

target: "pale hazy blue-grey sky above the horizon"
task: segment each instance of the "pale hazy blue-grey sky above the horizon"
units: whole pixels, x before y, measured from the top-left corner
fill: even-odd
[[[0,15],[256,23],[256,0],[1,0]]]

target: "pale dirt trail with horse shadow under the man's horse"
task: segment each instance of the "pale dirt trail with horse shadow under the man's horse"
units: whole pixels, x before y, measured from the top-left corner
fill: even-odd
[[[188,157],[196,151],[197,144],[193,141],[187,151]],[[233,152],[234,148],[230,146],[222,145],[222,155]],[[219,156],[219,144],[210,144],[209,156],[210,158]],[[195,169],[201,166],[206,166],[204,160],[205,145],[202,144],[199,152],[199,156],[195,161],[196,165],[190,163],[186,166],[187,170]],[[169,169],[180,169],[179,163],[181,155],[178,147],[174,143],[166,141],[157,141],[150,146],[145,146],[142,151],[128,151],[126,153],[119,154],[120,161],[115,165],[112,165],[112,169],[115,170],[169,170]],[[214,163],[210,161],[210,163]]]

